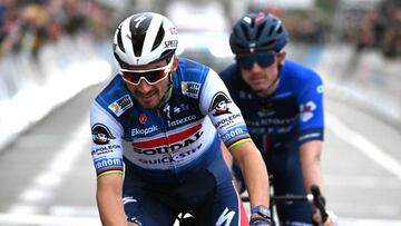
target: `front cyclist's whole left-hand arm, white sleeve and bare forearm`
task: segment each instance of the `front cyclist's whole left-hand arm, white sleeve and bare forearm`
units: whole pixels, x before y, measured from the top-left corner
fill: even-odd
[[[128,225],[123,205],[121,125],[96,101],[90,108],[96,199],[102,225]]]

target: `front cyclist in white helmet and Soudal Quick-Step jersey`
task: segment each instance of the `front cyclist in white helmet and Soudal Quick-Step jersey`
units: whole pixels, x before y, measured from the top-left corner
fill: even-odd
[[[102,225],[271,225],[268,178],[239,109],[211,68],[177,58],[177,29],[164,16],[133,14],[117,28],[120,73],[90,108],[91,155]],[[244,173],[247,219],[221,140]]]

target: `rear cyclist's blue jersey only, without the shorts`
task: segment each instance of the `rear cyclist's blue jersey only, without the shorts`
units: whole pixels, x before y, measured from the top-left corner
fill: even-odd
[[[266,151],[272,141],[323,140],[323,85],[314,71],[286,60],[278,73],[277,89],[265,98],[253,94],[236,65],[222,71],[221,77],[242,109],[260,150]]]

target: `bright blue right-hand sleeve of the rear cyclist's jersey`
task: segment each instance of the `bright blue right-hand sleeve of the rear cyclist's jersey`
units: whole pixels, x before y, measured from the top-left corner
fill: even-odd
[[[323,83],[321,78],[313,77],[305,82],[299,95],[300,107],[300,136],[299,141],[323,140],[324,137],[324,108]]]

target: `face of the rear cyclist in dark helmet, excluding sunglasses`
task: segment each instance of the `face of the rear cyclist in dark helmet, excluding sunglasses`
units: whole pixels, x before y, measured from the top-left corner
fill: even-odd
[[[278,66],[284,65],[285,52],[276,55],[271,66],[262,67],[254,62],[250,69],[241,68],[242,78],[258,96],[271,95],[277,87]]]

